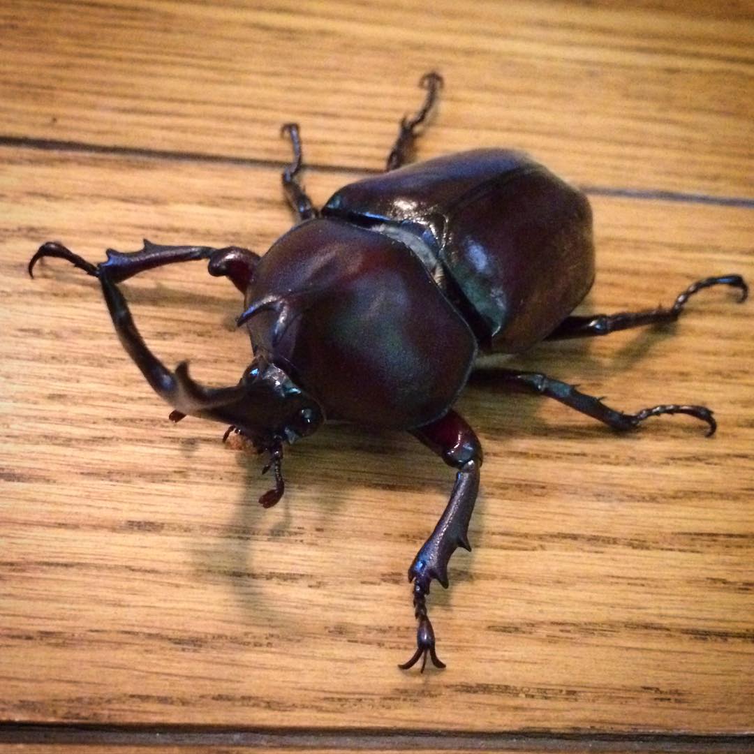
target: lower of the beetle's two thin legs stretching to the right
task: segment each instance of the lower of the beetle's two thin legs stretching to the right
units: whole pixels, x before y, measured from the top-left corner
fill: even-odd
[[[677,403],[669,403],[642,409],[634,414],[627,414],[605,406],[599,398],[581,393],[573,385],[568,385],[566,382],[560,382],[538,372],[516,372],[512,369],[499,369],[495,370],[495,375],[513,391],[554,398],[565,406],[596,418],[618,431],[633,429],[650,416],[662,414],[688,414],[701,421],[706,421],[709,427],[706,433],[707,437],[715,434],[717,428],[713,412],[706,406],[681,406]]]

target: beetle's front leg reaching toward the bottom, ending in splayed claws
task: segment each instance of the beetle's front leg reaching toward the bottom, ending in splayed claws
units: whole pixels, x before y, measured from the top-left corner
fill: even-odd
[[[471,549],[468,526],[479,492],[482,449],[474,430],[454,411],[412,434],[440,455],[446,464],[458,470],[450,501],[409,568],[414,615],[418,621],[416,651],[408,662],[398,667],[408,670],[421,658],[421,672],[424,672],[428,656],[435,667],[445,667],[435,651],[434,630],[427,615],[426,600],[433,579],[448,588],[448,562],[456,548]]]

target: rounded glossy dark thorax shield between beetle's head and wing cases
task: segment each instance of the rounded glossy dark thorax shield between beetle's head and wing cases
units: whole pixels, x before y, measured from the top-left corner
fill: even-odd
[[[262,257],[247,291],[290,302],[249,320],[255,348],[327,418],[411,429],[443,415],[476,356],[464,319],[424,265],[383,234],[335,219],[297,225]]]

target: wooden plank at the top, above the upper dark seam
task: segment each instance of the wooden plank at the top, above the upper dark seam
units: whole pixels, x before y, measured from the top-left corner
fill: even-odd
[[[752,198],[750,9],[727,3],[50,2],[0,8],[4,136],[379,170],[416,81],[422,155],[513,146],[588,185]]]

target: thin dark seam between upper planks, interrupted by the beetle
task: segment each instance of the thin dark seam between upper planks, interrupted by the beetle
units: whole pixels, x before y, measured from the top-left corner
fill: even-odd
[[[244,165],[247,167],[267,167],[282,170],[287,161],[265,160],[262,158],[232,157],[231,155],[212,155],[204,152],[180,152],[170,149],[146,149],[84,142],[65,141],[62,139],[35,139],[29,136],[0,136],[0,146],[16,146],[23,149],[38,149],[43,152],[79,152],[84,154],[114,155],[121,157],[138,157],[179,162],[207,162],[225,165]],[[345,173],[352,176],[377,175],[382,170],[367,167],[350,167],[348,165],[328,165],[306,163],[307,170],[315,172]],[[716,196],[697,192],[666,191],[665,189],[629,189],[599,185],[580,185],[587,195],[609,196],[639,199],[644,201],[676,201],[685,204],[712,204],[718,207],[746,207],[754,209],[754,198],[739,196]]]

